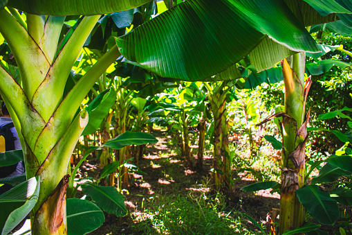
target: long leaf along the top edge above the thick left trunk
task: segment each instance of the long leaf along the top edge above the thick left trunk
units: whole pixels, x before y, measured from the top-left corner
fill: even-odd
[[[10,0],[8,6],[36,15],[102,15],[136,8],[152,0]]]

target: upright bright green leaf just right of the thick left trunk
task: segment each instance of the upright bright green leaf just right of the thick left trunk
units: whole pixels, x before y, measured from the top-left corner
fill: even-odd
[[[86,107],[86,110],[89,113],[89,121],[86,128],[84,128],[82,135],[93,134],[98,130],[100,123],[102,123],[104,117],[109,113],[115,100],[115,89],[106,89],[99,94],[88,107]]]

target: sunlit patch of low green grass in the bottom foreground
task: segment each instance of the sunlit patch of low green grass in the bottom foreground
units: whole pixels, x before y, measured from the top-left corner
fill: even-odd
[[[223,196],[158,195],[145,207],[133,225],[143,234],[259,234],[239,212],[226,208]]]

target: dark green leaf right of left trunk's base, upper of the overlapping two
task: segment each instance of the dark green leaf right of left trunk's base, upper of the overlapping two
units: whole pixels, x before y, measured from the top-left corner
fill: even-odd
[[[81,187],[83,192],[91,196],[100,209],[115,216],[125,216],[127,214],[123,196],[114,186],[98,186],[86,182]]]

